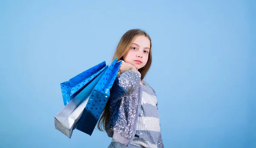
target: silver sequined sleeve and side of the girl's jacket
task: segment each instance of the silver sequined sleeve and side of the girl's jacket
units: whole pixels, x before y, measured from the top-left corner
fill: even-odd
[[[115,131],[131,139],[139,99],[140,77],[140,72],[134,70],[117,75],[109,98],[110,118],[107,131],[109,137],[113,137]]]

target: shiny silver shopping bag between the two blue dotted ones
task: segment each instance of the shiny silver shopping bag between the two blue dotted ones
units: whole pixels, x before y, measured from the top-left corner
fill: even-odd
[[[88,79],[86,82],[83,81],[81,84],[79,83],[83,86],[80,88],[81,91],[76,91],[78,94],[76,94],[76,96],[73,95],[75,97],[54,117],[55,128],[67,137],[70,138],[72,136],[73,130],[76,128],[76,124],[81,117],[85,105],[87,104],[91,91],[103,76],[107,68],[108,65],[99,70],[94,78],[91,77],[93,79]]]

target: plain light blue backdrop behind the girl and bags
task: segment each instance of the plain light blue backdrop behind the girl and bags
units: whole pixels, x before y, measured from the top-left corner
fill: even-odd
[[[107,148],[111,138],[54,127],[60,83],[102,61],[122,35],[151,36],[145,77],[166,148],[256,148],[253,0],[0,1],[0,147]]]

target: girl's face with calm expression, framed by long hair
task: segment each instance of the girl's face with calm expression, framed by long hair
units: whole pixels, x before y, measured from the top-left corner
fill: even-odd
[[[144,35],[135,37],[127,54],[123,57],[126,63],[134,65],[138,70],[143,68],[148,62],[148,54],[150,50],[150,40]]]

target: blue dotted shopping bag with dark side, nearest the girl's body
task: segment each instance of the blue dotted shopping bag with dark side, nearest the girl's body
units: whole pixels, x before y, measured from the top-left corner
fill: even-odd
[[[122,61],[116,62],[117,58],[105,71],[99,82],[93,88],[89,100],[76,129],[91,135],[101,116],[110,96],[110,89],[116,79]]]

